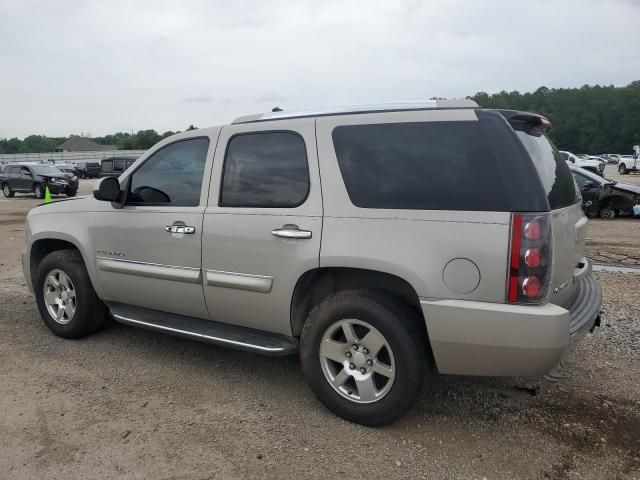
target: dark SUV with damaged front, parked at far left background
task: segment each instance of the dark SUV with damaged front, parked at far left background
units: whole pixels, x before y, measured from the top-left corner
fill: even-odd
[[[33,192],[36,198],[44,198],[46,188],[52,194],[63,193],[73,197],[78,193],[78,178],[53,165],[9,165],[0,176],[0,188],[5,197],[16,192]]]

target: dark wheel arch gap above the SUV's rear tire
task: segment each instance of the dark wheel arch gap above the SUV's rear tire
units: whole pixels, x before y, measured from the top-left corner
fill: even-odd
[[[420,299],[405,279],[387,272],[352,267],[322,267],[308,270],[300,276],[291,298],[291,332],[299,336],[309,312],[332,293],[347,289],[376,290],[388,297],[400,299],[426,328]]]

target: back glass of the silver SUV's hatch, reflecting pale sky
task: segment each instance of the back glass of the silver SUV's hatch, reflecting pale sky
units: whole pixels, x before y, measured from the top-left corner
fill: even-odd
[[[533,160],[551,210],[576,203],[578,198],[571,170],[555,145],[537,128],[512,126]]]

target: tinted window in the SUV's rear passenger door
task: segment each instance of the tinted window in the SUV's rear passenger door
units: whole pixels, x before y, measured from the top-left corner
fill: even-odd
[[[297,207],[308,193],[307,149],[298,134],[261,132],[229,140],[221,206]]]

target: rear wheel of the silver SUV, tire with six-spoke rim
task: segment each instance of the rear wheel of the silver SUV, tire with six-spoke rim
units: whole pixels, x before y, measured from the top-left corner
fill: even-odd
[[[344,322],[350,323],[358,350],[344,335]],[[378,344],[380,337],[386,342],[377,354],[367,351],[367,344],[374,348],[367,341],[370,333]],[[333,349],[321,349],[327,339],[333,339]],[[418,400],[433,372],[428,349],[423,321],[408,307],[372,291],[343,290],[322,300],[309,314],[300,339],[300,362],[311,389],[329,410],[346,420],[376,426],[397,420]],[[391,366],[385,375],[372,373],[383,364]],[[366,385],[374,385],[373,390]]]

